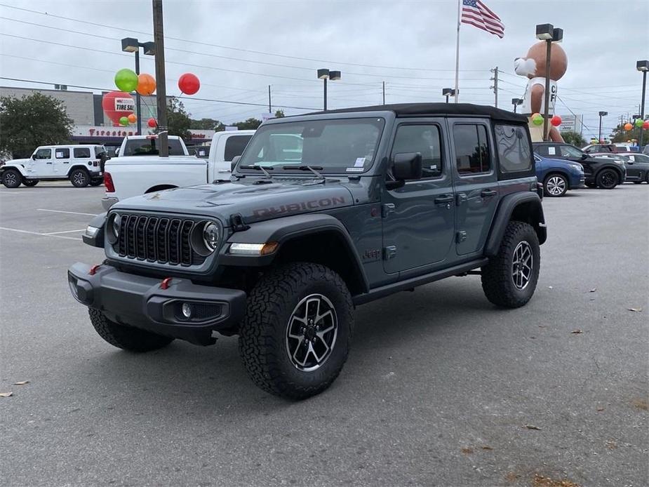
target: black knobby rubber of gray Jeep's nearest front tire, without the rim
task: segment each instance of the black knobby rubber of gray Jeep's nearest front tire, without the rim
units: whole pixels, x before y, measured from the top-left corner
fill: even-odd
[[[277,363],[277,354],[286,352],[283,343],[276,342],[274,326],[277,326],[275,323],[280,323],[283,301],[295,296],[307,283],[316,280],[332,283],[344,297],[347,309],[336,311],[337,314],[347,314],[349,333],[347,343],[336,342],[336,347],[345,347],[346,351],[334,373],[317,385],[303,387],[291,381]],[[248,295],[246,315],[239,331],[239,353],[250,379],[266,392],[287,399],[306,399],[325,390],[337,378],[347,360],[352,340],[353,309],[352,298],[344,281],[323,265],[293,262],[264,276]],[[345,320],[339,316],[338,322],[340,326]],[[283,324],[280,323],[279,326]]]

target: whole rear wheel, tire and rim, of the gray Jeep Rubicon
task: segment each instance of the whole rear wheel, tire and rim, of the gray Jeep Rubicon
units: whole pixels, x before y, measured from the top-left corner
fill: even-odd
[[[507,224],[500,249],[482,268],[482,289],[490,302],[507,308],[525,305],[539,279],[539,239],[528,223]]]

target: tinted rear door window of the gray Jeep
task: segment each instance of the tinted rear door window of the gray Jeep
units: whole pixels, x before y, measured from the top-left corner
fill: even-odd
[[[491,168],[487,129],[477,124],[453,126],[455,140],[455,164],[461,175],[486,173]]]

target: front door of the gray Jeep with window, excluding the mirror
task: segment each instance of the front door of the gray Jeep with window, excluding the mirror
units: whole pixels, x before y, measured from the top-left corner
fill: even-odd
[[[442,262],[453,246],[453,179],[443,127],[443,119],[409,119],[396,127],[389,164],[395,154],[419,152],[423,177],[383,190],[383,267],[389,274]]]

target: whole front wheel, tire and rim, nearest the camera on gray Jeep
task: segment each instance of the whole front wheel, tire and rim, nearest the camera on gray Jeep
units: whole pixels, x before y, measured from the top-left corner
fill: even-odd
[[[340,276],[293,262],[262,277],[248,296],[239,352],[261,389],[306,399],[337,378],[353,327],[352,297]]]

